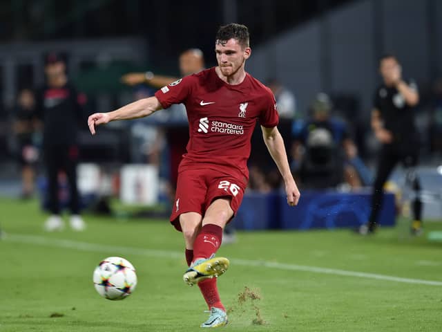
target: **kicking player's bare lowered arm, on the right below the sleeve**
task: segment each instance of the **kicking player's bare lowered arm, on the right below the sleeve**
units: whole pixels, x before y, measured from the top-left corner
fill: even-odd
[[[284,140],[277,127],[266,128],[261,126],[261,129],[265,145],[270,152],[271,158],[275,160],[279,172],[284,179],[287,204],[290,206],[298,205],[300,192],[293,176],[291,175],[287,153],[285,152]]]

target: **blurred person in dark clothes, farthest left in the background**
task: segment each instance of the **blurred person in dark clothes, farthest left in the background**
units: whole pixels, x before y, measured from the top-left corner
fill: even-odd
[[[13,118],[17,157],[21,165],[21,198],[29,199],[34,193],[35,167],[39,158],[39,150],[35,145],[35,98],[31,89],[20,91]]]

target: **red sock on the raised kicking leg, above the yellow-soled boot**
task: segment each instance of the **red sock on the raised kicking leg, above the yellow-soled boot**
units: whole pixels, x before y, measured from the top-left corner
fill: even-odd
[[[202,226],[193,243],[193,261],[211,257],[220,248],[221,241],[222,228],[220,226],[211,223]]]

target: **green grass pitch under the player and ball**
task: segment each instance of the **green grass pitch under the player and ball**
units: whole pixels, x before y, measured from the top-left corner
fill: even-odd
[[[200,331],[206,306],[182,282],[184,241],[168,221],[85,215],[86,232],[48,234],[36,201],[1,199],[0,211],[0,332]],[[365,238],[238,232],[238,243],[218,252],[231,259],[218,282],[224,329],[442,331],[442,242],[410,237],[407,227],[403,220]],[[97,263],[113,255],[137,268],[137,289],[119,302],[92,283]]]

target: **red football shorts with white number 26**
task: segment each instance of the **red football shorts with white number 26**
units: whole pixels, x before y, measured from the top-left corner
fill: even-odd
[[[213,169],[185,169],[178,174],[175,204],[171,214],[171,223],[182,231],[180,214],[197,212],[204,217],[209,205],[215,199],[230,199],[233,214],[236,214],[246,189],[244,178],[225,174]]]

